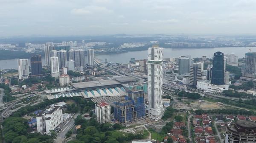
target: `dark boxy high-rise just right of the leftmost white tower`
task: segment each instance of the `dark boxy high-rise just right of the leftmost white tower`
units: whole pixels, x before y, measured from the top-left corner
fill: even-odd
[[[32,55],[30,59],[31,76],[42,76],[42,58],[41,55]]]

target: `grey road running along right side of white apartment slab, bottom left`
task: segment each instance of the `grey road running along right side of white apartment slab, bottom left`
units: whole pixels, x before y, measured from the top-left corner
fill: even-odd
[[[66,137],[67,132],[75,126],[75,119],[79,115],[79,113],[76,113],[70,121],[67,122],[67,124],[61,129],[61,131],[58,133],[56,139],[54,140],[54,143],[64,143],[64,139]]]

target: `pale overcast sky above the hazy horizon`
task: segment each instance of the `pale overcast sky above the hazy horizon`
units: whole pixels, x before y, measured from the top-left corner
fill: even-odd
[[[256,0],[0,0],[0,37],[256,34]]]

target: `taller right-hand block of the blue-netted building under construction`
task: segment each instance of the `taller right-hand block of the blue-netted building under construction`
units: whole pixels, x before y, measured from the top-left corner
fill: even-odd
[[[128,90],[128,96],[134,101],[134,120],[145,118],[144,90]]]

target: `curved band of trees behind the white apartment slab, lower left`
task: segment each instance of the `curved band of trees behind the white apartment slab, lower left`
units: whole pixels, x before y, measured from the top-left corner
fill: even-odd
[[[95,106],[93,101],[90,101],[90,100],[87,100],[84,98],[80,98],[80,97],[76,97],[76,96],[71,97],[71,98],[60,97],[60,98],[56,98],[56,99],[52,99],[52,100],[46,100],[46,101],[36,104],[34,106],[28,105],[26,107],[21,107],[16,112],[14,112],[12,116],[21,117],[21,116],[29,114],[35,110],[44,109],[45,107],[47,107],[51,104],[55,104],[55,103],[62,102],[62,101],[69,101],[69,100],[75,101],[76,104],[68,105],[68,107],[67,107],[68,112],[77,112],[80,110],[81,113],[84,113],[84,112],[90,111],[90,109],[93,109]]]

